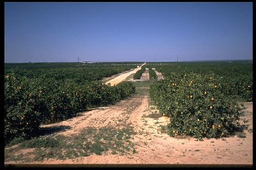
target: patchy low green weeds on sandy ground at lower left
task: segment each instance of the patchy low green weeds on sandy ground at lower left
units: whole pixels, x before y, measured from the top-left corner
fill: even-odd
[[[22,141],[15,148],[4,152],[6,161],[43,161],[44,159],[76,159],[88,157],[93,153],[102,155],[109,152],[113,155],[136,153],[131,136],[136,134],[133,127],[86,127],[73,136],[44,136]],[[31,154],[23,154],[20,150],[34,148]]]

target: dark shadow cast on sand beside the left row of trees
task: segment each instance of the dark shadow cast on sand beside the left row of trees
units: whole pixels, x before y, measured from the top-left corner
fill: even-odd
[[[58,125],[54,127],[40,127],[38,131],[38,136],[45,136],[49,134],[54,134],[56,132],[65,132],[68,129],[71,129],[68,125]]]

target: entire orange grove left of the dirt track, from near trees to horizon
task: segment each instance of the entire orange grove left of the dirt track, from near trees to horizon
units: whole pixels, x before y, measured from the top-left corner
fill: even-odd
[[[29,139],[40,124],[125,99],[135,90],[130,82],[110,87],[101,80],[134,69],[137,64],[5,64],[4,142]]]

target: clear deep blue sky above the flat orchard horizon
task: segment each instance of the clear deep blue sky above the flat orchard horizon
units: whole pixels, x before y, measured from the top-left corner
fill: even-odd
[[[4,62],[253,58],[253,3],[4,3]]]

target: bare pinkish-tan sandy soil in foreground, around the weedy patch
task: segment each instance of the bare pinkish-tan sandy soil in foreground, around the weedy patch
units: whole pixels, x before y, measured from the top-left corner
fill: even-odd
[[[67,125],[71,129],[56,134],[74,135],[84,127],[125,127],[132,125],[136,135],[132,136],[137,153],[127,155],[90,155],[77,159],[54,160],[47,159],[44,162],[31,162],[29,164],[218,164],[218,165],[252,165],[253,164],[253,120],[252,103],[246,103],[246,118],[248,130],[245,130],[246,138],[232,136],[222,139],[204,139],[197,141],[195,138],[171,138],[161,132],[161,125],[168,124],[168,118],[150,118],[157,113],[154,106],[148,104],[148,94],[134,96],[122,101],[115,106],[98,108],[84,112],[80,117],[72,118],[58,124]],[[127,111],[128,110],[128,111]],[[155,114],[156,115],[156,114]],[[120,121],[122,120],[122,121]],[[56,135],[54,134],[54,135]],[[13,164],[19,162],[5,162]]]

